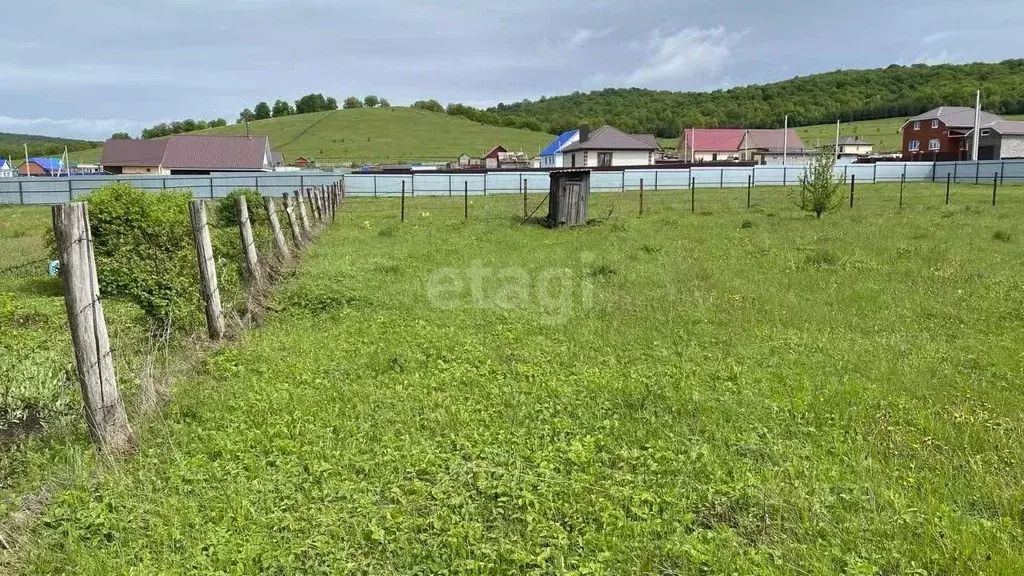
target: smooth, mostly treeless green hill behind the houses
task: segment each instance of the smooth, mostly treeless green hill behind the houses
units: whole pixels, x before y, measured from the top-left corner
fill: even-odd
[[[269,136],[274,150],[291,162],[302,156],[322,163],[400,163],[454,161],[459,155],[482,156],[495,145],[530,157],[554,136],[515,128],[500,128],[412,108],[356,109],[261,120],[252,133]],[[204,130],[209,134],[244,134],[232,124]],[[72,159],[96,161],[100,149],[72,154]]]

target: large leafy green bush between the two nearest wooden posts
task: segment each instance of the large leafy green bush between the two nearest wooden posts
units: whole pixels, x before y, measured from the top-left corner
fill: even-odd
[[[155,326],[199,311],[190,199],[187,192],[144,192],[124,182],[85,198],[101,292],[132,300]]]

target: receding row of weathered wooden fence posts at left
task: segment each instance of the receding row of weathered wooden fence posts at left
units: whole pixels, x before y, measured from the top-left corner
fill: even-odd
[[[257,196],[257,198],[259,198]],[[340,181],[294,191],[283,195],[282,206],[291,231],[291,243],[278,216],[278,202],[266,197],[263,206],[249,203],[247,194],[234,195],[234,218],[241,240],[245,272],[247,315],[252,318],[259,298],[274,280],[274,265],[286,265],[312,242],[319,231],[334,221],[344,198]],[[224,338],[225,312],[217,282],[218,254],[211,235],[207,201],[188,202],[188,221],[196,247],[199,292],[205,308],[207,333],[211,340]],[[308,208],[308,212],[307,212]],[[132,445],[132,429],[115,373],[106,319],[100,294],[94,239],[89,223],[88,204],[72,202],[53,206],[54,244],[60,263],[62,291],[71,329],[77,378],[85,405],[90,438],[101,451],[124,453]],[[256,218],[256,214],[260,214]],[[222,215],[222,213],[221,213]],[[273,257],[260,255],[253,224],[265,222],[273,239]],[[223,255],[220,255],[223,258]]]

